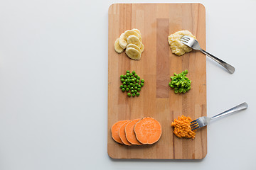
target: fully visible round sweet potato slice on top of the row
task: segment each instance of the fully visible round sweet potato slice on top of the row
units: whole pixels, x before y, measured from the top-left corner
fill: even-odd
[[[134,132],[142,144],[154,144],[161,137],[161,125],[154,118],[142,118],[134,125]]]

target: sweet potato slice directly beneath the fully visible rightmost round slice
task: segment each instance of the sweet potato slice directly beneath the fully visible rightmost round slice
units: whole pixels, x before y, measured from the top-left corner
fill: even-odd
[[[133,145],[142,145],[142,143],[137,140],[135,133],[134,133],[134,125],[137,122],[139,122],[139,120],[141,120],[141,119],[139,118],[139,119],[130,121],[129,123],[127,123],[127,125],[124,128],[125,137],[127,138],[128,142],[130,142]]]

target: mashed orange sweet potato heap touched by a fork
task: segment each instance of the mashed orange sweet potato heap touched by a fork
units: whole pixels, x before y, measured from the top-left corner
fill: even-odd
[[[187,137],[194,139],[196,137],[196,130],[191,130],[191,121],[190,117],[181,115],[178,116],[178,119],[174,119],[174,122],[171,123],[171,126],[174,127],[174,134],[177,137]]]

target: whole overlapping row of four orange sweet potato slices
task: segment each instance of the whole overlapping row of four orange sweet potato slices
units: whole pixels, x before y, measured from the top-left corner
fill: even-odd
[[[154,144],[161,137],[161,125],[154,118],[120,120],[111,128],[112,138],[119,144],[146,145]]]

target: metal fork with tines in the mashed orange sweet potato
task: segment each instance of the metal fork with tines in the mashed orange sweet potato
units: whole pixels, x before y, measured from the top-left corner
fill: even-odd
[[[198,128],[202,128],[202,127],[208,125],[208,124],[210,123],[210,120],[213,120],[213,119],[215,119],[215,118],[220,118],[220,117],[223,116],[223,115],[228,115],[228,114],[234,113],[234,112],[236,112],[236,111],[241,111],[241,110],[243,110],[243,109],[246,109],[247,107],[248,107],[247,103],[244,102],[244,103],[241,103],[241,104],[238,105],[238,106],[235,106],[235,107],[233,107],[233,108],[230,108],[228,111],[224,111],[223,113],[220,113],[220,114],[218,114],[218,115],[215,115],[215,116],[213,116],[213,117],[211,117],[211,118],[206,117],[206,116],[200,117],[200,118],[198,118],[198,119],[196,119],[196,120],[193,120],[193,121],[191,122],[191,130],[196,130],[196,129],[198,129]]]

